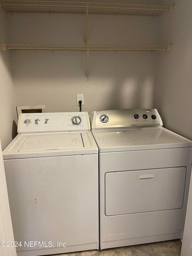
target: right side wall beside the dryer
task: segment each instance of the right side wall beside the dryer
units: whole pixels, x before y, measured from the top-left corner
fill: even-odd
[[[173,52],[158,58],[155,107],[166,128],[192,139],[192,1],[175,2],[176,12],[161,17],[161,41]]]

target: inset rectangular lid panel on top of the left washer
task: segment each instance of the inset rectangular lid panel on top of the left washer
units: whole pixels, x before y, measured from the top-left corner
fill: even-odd
[[[83,148],[81,133],[29,134],[18,151]]]

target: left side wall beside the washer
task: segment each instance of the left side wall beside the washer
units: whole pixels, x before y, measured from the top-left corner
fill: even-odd
[[[0,42],[8,41],[7,14],[0,8]],[[16,135],[16,100],[10,68],[10,53],[0,51],[0,137],[2,149]]]

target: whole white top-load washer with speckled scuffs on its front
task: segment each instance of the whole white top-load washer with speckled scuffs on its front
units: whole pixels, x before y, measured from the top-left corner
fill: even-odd
[[[18,133],[3,150],[17,255],[98,249],[98,147],[88,113],[20,114]]]

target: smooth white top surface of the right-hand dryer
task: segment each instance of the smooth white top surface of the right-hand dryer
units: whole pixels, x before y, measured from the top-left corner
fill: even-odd
[[[92,131],[99,152],[191,147],[192,141],[163,127]]]

